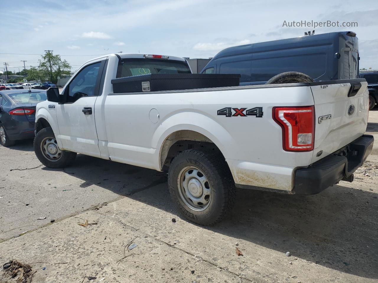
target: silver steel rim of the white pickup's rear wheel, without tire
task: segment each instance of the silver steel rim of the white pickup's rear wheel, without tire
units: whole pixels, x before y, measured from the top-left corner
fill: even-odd
[[[180,198],[194,211],[203,211],[211,202],[211,187],[208,178],[195,166],[181,169],[177,178]]]

